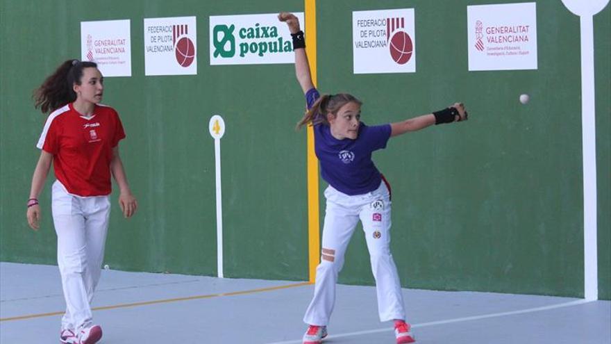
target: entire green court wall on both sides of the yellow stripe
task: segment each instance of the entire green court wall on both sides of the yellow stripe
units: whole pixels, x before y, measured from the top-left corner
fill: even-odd
[[[494,1],[503,3],[508,1]],[[467,71],[466,6],[493,1],[317,1],[318,81],[347,91],[379,124],[464,101],[469,122],[393,138],[375,154],[393,189],[392,248],[403,286],[583,296],[579,19],[537,1],[539,69]],[[217,275],[214,142],[221,139],[226,277],[305,280],[308,234],[303,108],[293,65],[210,66],[210,15],[303,11],[303,1],[0,0],[0,259],[56,261],[50,181],[42,228],[25,199],[44,116],[31,92],[80,56],[80,22],[131,19],[132,75],[104,103],[128,137],[122,158],[140,209],[114,206],[106,262],[122,270]],[[415,8],[417,72],[352,73],[353,10]],[[144,76],[144,18],[196,16],[198,75]],[[594,17],[599,290],[611,299],[611,10]],[[372,87],[372,85],[374,87]],[[531,96],[526,106],[517,101]],[[321,183],[321,190],[325,187]],[[321,198],[321,217],[324,199]],[[322,222],[321,222],[322,223]],[[371,284],[360,229],[341,275]]]

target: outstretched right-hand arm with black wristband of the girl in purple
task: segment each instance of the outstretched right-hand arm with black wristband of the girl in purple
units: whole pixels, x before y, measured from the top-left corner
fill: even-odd
[[[467,120],[467,111],[462,103],[454,103],[449,108],[444,108],[435,113],[413,117],[402,122],[390,124],[390,137],[399,136],[409,131],[424,129],[433,124],[462,122]]]

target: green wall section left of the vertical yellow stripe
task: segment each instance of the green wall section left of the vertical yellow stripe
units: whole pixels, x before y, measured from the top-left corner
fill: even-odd
[[[132,77],[108,78],[103,102],[119,111],[121,152],[140,209],[114,210],[106,261],[124,270],[217,275],[214,141],[221,139],[226,277],[308,277],[303,104],[293,65],[210,66],[208,17],[303,11],[301,1],[1,1],[1,259],[55,263],[50,182],[39,233],[27,227],[24,199],[45,117],[31,92],[67,58],[80,57],[80,22],[131,19]],[[144,76],[143,19],[197,17],[198,75]],[[36,24],[33,25],[32,23]],[[8,33],[12,34],[8,34]],[[17,44],[23,38],[28,44]],[[11,47],[7,49],[5,47]],[[24,49],[25,48],[25,49]],[[278,82],[283,81],[283,82]],[[287,110],[294,109],[294,110]]]

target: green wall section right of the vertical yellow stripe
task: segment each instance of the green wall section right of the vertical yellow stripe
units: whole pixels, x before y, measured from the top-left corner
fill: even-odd
[[[439,1],[319,1],[319,85],[357,95],[370,124],[454,101],[471,114],[464,124],[393,138],[374,155],[393,189],[392,249],[403,286],[583,296],[579,19],[560,0],[537,1],[539,69],[468,72],[466,7],[505,2],[444,1],[440,10]],[[387,8],[415,8],[417,72],[355,75],[352,11]],[[594,28],[599,280],[606,299],[610,13],[600,13]],[[526,106],[518,101],[522,93],[531,97]],[[374,283],[366,252],[359,231],[342,282]]]

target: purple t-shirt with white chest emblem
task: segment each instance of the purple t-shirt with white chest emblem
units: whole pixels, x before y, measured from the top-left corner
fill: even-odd
[[[305,93],[308,108],[320,94],[316,88]],[[326,124],[314,126],[314,148],[320,161],[322,178],[346,195],[362,195],[376,190],[382,182],[380,172],[371,161],[371,153],[386,147],[390,124],[367,126],[360,122],[355,140],[337,140]]]

